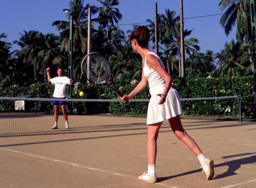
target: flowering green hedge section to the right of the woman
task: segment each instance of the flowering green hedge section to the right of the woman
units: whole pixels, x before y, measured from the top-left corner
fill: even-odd
[[[189,81],[177,80],[174,87],[181,98],[203,98],[237,96],[242,93],[244,116],[254,113],[253,76],[243,78],[232,77],[223,79],[194,79]],[[183,101],[185,114],[231,115],[238,114],[238,99],[218,99]]]

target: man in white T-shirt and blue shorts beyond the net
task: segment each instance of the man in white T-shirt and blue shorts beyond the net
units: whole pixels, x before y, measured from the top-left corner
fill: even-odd
[[[55,86],[52,98],[65,99],[66,86],[67,84],[72,84],[73,80],[69,79],[67,76],[62,75],[63,69],[61,67],[58,68],[58,76],[55,78],[51,78],[50,67],[46,69],[46,72],[48,81]],[[68,115],[66,112],[66,101],[52,101],[52,105],[54,106],[54,125],[52,129],[58,129],[59,106],[61,107],[61,111],[66,122],[65,127],[66,129],[69,129]]]

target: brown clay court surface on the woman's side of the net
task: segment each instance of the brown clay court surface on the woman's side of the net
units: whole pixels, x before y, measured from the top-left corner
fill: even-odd
[[[256,187],[255,122],[182,123],[214,160],[213,180],[205,180],[196,156],[165,122],[156,184],[137,180],[147,167],[146,129],[139,123],[140,129],[1,137],[0,187]]]

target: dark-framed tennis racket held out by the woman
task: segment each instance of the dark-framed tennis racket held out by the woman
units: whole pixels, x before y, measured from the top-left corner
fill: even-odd
[[[108,59],[98,52],[87,54],[81,63],[81,70],[85,78],[97,85],[104,85],[114,89],[120,97],[124,95],[119,91],[113,82],[111,65]],[[111,82],[112,86],[108,83]],[[128,99],[126,99],[128,102]]]

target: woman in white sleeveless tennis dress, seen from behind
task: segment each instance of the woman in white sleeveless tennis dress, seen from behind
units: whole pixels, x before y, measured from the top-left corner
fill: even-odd
[[[172,78],[165,71],[162,60],[148,48],[149,30],[146,26],[135,29],[129,37],[132,48],[142,57],[142,76],[137,87],[128,95],[124,95],[124,102],[137,95],[149,84],[151,95],[147,114],[147,154],[148,169],[139,176],[139,180],[155,183],[156,177],[156,153],[158,131],[166,119],[168,119],[172,131],[178,139],[183,141],[187,147],[197,156],[206,174],[206,179],[211,180],[214,176],[213,160],[206,158],[196,142],[183,129],[180,115],[182,107],[179,93],[171,87]]]

